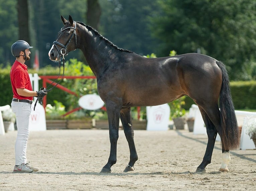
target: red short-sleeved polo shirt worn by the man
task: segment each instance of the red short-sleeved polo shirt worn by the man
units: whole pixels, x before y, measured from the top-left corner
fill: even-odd
[[[27,90],[33,91],[30,78],[27,72],[27,66],[16,60],[12,65],[10,77],[11,77],[13,97],[17,99],[32,100],[33,97],[25,97],[25,96],[18,95],[16,90],[16,88],[21,88],[21,89],[25,88]]]

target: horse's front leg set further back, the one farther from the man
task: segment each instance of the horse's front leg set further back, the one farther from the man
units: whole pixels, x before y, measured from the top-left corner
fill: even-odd
[[[133,171],[134,163],[138,160],[138,155],[136,152],[135,144],[134,144],[134,131],[132,127],[132,119],[131,119],[131,108],[122,108],[120,112],[120,119],[123,124],[124,134],[130,149],[130,161],[124,172]]]

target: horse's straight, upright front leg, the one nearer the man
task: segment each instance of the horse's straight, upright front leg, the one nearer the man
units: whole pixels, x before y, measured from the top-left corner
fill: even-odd
[[[101,173],[110,173],[111,166],[116,163],[118,128],[121,106],[114,101],[107,101],[106,108],[109,122],[110,155],[107,164],[102,168]]]

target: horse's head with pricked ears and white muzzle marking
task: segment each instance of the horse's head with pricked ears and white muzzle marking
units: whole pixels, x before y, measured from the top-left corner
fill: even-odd
[[[77,49],[77,33],[76,22],[69,16],[69,20],[66,20],[61,15],[62,27],[58,33],[58,38],[53,42],[53,45],[48,53],[50,60],[59,60],[61,56],[68,55],[69,52]]]

